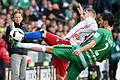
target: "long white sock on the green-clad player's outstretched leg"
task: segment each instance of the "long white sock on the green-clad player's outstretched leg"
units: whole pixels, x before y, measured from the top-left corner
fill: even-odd
[[[26,48],[26,49],[41,48],[42,52],[45,52],[46,50],[46,47],[44,45],[33,44],[33,43],[18,43],[17,46],[20,48]]]

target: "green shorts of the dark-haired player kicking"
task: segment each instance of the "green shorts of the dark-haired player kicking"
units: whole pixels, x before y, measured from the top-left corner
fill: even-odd
[[[73,56],[72,52],[75,49],[80,48],[81,46],[72,46],[72,45],[55,45],[54,46],[54,55],[63,59],[70,61],[70,64],[67,68],[67,80],[75,80],[79,73],[84,69],[82,66],[79,56]]]

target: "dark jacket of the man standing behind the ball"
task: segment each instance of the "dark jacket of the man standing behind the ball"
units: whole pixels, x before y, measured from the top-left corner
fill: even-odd
[[[27,28],[25,26],[23,26],[23,24],[21,23],[20,25],[16,24],[14,22],[14,26],[15,28],[20,28],[22,29],[24,32],[28,32]],[[6,30],[6,41],[8,43],[8,52],[10,54],[10,56],[12,54],[21,54],[21,55],[27,55],[27,49],[23,49],[23,48],[13,48],[11,41],[9,40],[9,34],[10,31],[12,30],[11,26],[9,26]],[[30,39],[23,39],[22,43],[26,43],[26,42],[30,42]]]

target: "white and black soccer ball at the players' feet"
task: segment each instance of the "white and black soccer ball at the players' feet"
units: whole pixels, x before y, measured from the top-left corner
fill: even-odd
[[[20,28],[14,28],[10,31],[10,40],[21,42],[24,38],[24,32]]]

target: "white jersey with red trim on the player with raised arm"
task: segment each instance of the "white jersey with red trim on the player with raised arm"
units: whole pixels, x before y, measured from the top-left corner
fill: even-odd
[[[72,45],[80,45],[88,40],[98,29],[97,22],[92,17],[87,17],[84,21],[79,22],[71,29],[64,39],[69,39]],[[80,32],[80,39],[76,39],[76,35]]]

